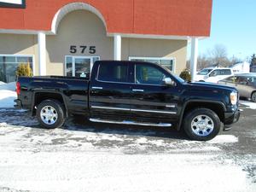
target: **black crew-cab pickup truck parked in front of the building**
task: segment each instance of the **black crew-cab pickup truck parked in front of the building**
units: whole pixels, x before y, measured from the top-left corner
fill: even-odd
[[[236,89],[185,82],[141,61],[96,61],[90,79],[20,77],[16,90],[15,107],[31,110],[45,128],[61,127],[71,114],[82,114],[92,122],[172,126],[207,141],[240,116]]]

